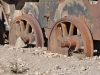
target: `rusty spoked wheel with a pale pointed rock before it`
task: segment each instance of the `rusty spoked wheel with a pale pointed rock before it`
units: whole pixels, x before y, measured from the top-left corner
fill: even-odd
[[[44,40],[39,23],[31,15],[17,17],[10,29],[9,43],[15,45],[18,37],[21,37],[27,45],[43,47]]]

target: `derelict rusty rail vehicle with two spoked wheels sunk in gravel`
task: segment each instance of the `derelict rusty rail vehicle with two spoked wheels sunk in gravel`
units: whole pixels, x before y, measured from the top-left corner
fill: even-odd
[[[9,44],[20,37],[68,56],[100,49],[99,0],[1,0],[0,8],[0,44],[9,32]]]

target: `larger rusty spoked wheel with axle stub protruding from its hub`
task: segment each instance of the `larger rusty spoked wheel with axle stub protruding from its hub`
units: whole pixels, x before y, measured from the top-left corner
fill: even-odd
[[[93,41],[88,27],[79,18],[68,16],[58,20],[52,28],[48,49],[68,56],[93,56]]]

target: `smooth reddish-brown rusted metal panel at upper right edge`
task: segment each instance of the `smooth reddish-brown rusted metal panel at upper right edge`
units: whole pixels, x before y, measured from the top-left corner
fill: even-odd
[[[93,39],[100,40],[100,0],[97,4],[91,4],[89,0],[84,0],[87,5],[93,20]]]

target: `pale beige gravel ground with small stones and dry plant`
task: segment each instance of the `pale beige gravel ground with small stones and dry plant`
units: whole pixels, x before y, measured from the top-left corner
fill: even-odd
[[[67,57],[43,48],[0,46],[0,75],[100,75],[100,57]]]

